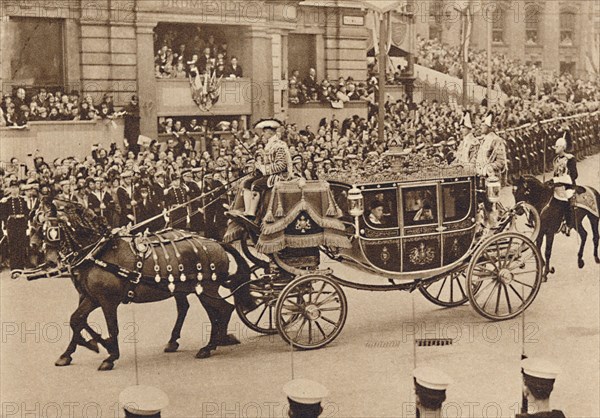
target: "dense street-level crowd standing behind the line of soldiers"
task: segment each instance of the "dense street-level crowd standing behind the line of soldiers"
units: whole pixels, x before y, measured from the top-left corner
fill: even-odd
[[[511,106],[495,105],[492,110],[497,115],[496,128],[500,130],[597,108],[597,104],[589,102],[576,105],[547,101],[527,107],[521,102]],[[473,105],[469,110],[476,127],[475,135],[478,135],[477,127],[488,109]],[[315,127],[299,127],[295,123],[288,123],[282,131],[282,137],[290,145],[292,156],[301,156],[300,169],[304,175],[317,178],[332,168],[346,169],[351,159],[364,161],[369,156],[381,155],[391,141],[414,152],[421,149],[427,152],[436,144],[445,146],[453,140],[458,143],[461,139],[459,122],[462,114],[463,108],[458,105],[436,101],[424,101],[417,105],[402,99],[386,103],[385,138],[378,138],[375,114],[368,118],[355,115],[344,120],[335,116],[323,118]],[[206,119],[192,119],[185,125],[181,121],[173,124],[168,121],[163,131],[170,133],[166,143],[153,140],[137,155],[134,152],[123,153],[114,145],[110,150],[95,148],[81,161],[64,158],[45,162],[38,157],[33,175],[56,183],[69,177],[77,183],[80,179],[85,182],[88,177],[105,176],[111,183],[126,169],[141,174],[162,170],[168,178],[168,174],[184,168],[202,167],[205,172],[226,181],[242,175],[247,169],[247,161],[257,155],[260,158],[264,149],[265,144],[258,133],[240,128],[237,121],[222,122],[213,127]],[[188,135],[190,132],[204,135],[206,151],[202,150],[194,136]]]

